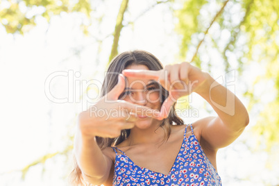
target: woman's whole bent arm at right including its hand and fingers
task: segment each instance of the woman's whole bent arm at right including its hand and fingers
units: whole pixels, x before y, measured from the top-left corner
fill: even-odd
[[[124,70],[124,76],[155,79],[169,90],[169,97],[162,104],[160,117],[168,117],[171,106],[181,96],[196,92],[217,112],[217,117],[207,117],[194,122],[198,135],[207,148],[228,146],[242,133],[249,122],[248,112],[242,102],[214,80],[208,73],[187,62],[168,65],[160,71]],[[166,112],[167,111],[167,112]]]

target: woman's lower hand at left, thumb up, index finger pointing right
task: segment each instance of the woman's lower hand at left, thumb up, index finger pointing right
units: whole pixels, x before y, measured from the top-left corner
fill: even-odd
[[[135,126],[137,115],[159,117],[159,110],[119,100],[124,88],[124,76],[119,74],[117,85],[89,110],[78,115],[78,127],[83,137],[118,137],[121,130]]]

